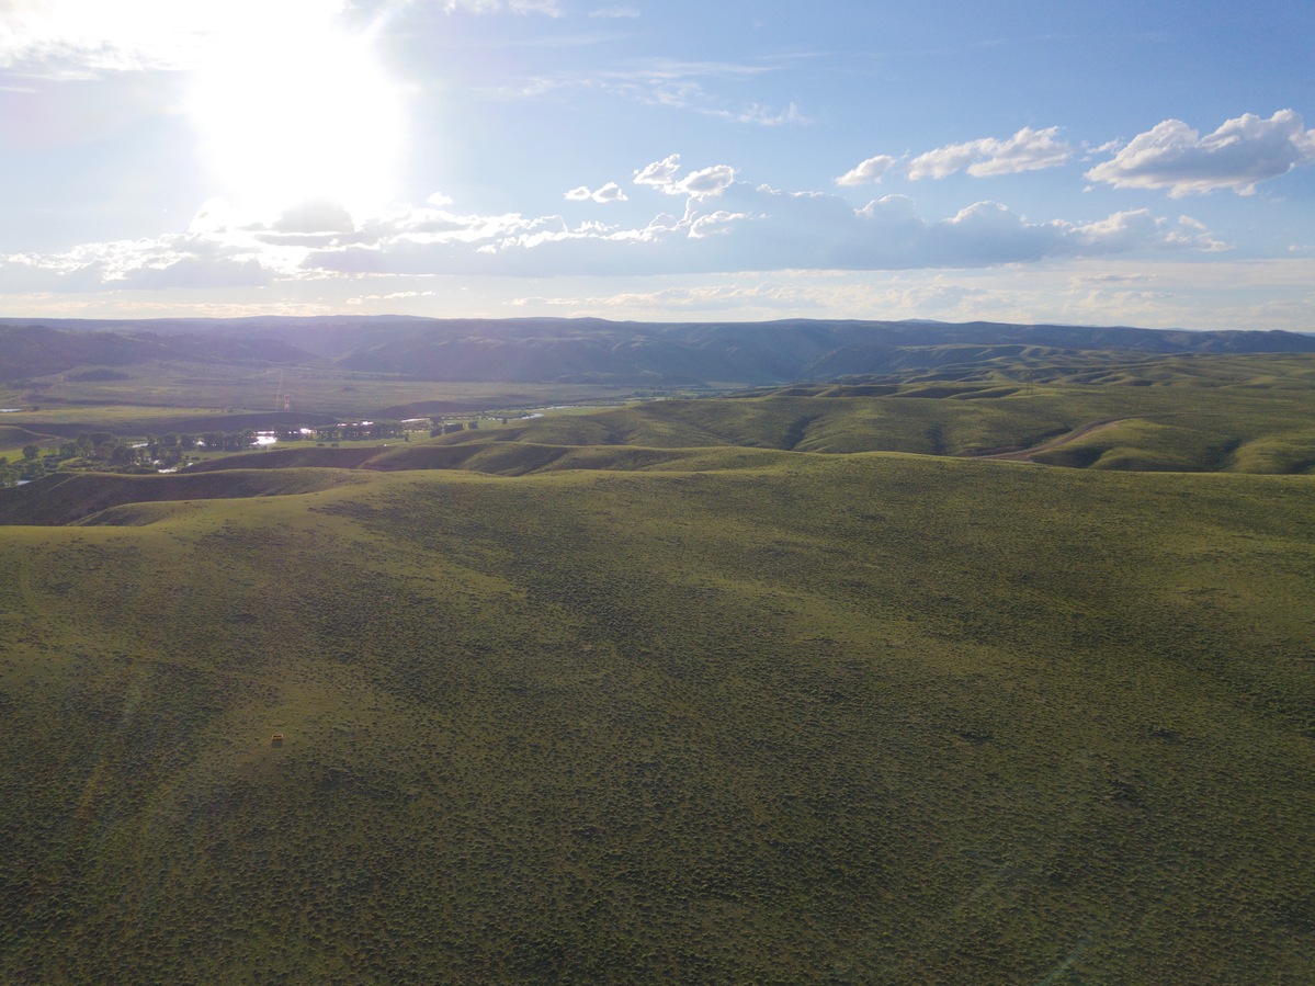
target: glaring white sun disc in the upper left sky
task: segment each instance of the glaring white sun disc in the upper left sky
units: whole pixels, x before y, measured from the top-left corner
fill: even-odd
[[[241,212],[331,201],[359,216],[393,197],[401,104],[367,38],[301,21],[216,45],[189,110],[208,168]]]

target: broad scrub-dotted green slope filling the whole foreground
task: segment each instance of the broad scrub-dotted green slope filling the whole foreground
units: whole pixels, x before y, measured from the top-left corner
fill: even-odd
[[[748,455],[0,531],[0,979],[1315,977],[1310,477]]]

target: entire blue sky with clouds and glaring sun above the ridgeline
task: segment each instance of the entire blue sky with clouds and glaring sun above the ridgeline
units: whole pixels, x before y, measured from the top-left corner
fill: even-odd
[[[1308,0],[0,0],[0,314],[1315,331]]]

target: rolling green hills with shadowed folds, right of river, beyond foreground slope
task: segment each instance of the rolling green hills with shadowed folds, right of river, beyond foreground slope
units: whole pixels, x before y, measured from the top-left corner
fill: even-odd
[[[443,442],[982,456],[1099,425],[1027,458],[1123,471],[1315,471],[1315,356],[1176,356],[1098,369],[1085,359],[989,363],[956,376],[651,401]]]

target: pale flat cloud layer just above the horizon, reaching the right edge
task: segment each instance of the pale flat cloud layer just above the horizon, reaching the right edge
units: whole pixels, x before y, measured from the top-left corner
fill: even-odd
[[[775,271],[752,277],[563,279],[518,297],[525,310],[652,321],[939,318],[948,322],[1143,325],[1161,329],[1306,330],[1315,319],[1315,260],[1059,258],[990,270]],[[615,289],[613,291],[613,285]]]

